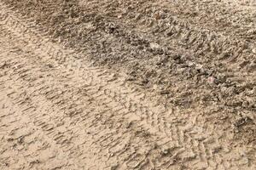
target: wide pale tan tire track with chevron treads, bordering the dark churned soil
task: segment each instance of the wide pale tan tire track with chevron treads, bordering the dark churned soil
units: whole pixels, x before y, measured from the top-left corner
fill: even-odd
[[[11,11],[5,12],[11,14]],[[19,17],[15,16],[14,18]],[[17,45],[19,46],[18,51],[21,51],[21,56],[19,58],[17,56],[8,55],[10,57],[8,61],[11,62],[9,65],[12,65],[12,67],[7,68],[7,71],[10,71],[7,77],[10,77],[11,80],[9,80],[9,82],[3,80],[3,84],[16,84],[16,86],[21,84],[22,86],[19,86],[19,88],[26,89],[26,93],[28,93],[28,95],[23,94],[25,95],[23,98],[18,97],[22,96],[22,92],[20,93],[19,89],[16,92],[17,95],[15,94],[15,97],[12,98],[12,100],[18,105],[24,106],[26,112],[29,108],[37,108],[37,103],[44,101],[44,107],[40,108],[40,110],[50,113],[51,108],[54,108],[54,111],[52,111],[50,115],[53,117],[55,114],[60,115],[60,117],[52,118],[53,120],[69,116],[72,121],[70,121],[71,125],[68,126],[67,129],[71,131],[73,128],[76,128],[77,130],[76,133],[72,131],[70,134],[71,139],[46,133],[46,135],[49,136],[52,141],[55,141],[56,144],[68,145],[65,141],[79,141],[80,139],[84,139],[84,136],[90,138],[89,135],[84,135],[84,131],[81,127],[91,127],[89,128],[90,130],[96,131],[91,139],[88,139],[87,142],[85,141],[84,144],[81,144],[81,147],[84,146],[84,148],[78,149],[82,152],[79,161],[84,161],[82,159],[84,156],[91,156],[89,158],[87,157],[86,162],[95,159],[92,163],[94,165],[91,165],[91,168],[96,168],[92,166],[108,167],[113,165],[113,161],[118,160],[118,162],[115,162],[116,166],[111,168],[116,167],[120,169],[148,169],[148,167],[169,168],[170,166],[175,169],[176,167],[191,166],[194,163],[205,164],[204,166],[206,167],[213,166],[218,168],[218,166],[224,166],[224,163],[222,163],[224,160],[218,160],[221,156],[224,156],[224,153],[215,153],[218,152],[216,150],[219,148],[219,144],[217,144],[217,146],[215,144],[216,139],[212,139],[212,141],[204,139],[208,138],[208,136],[204,137],[201,134],[202,132],[198,133],[198,129],[196,129],[194,124],[189,125],[189,127],[184,127],[184,124],[189,123],[188,121],[185,121],[183,117],[177,118],[175,116],[177,113],[165,110],[160,111],[159,106],[154,106],[152,102],[148,102],[145,97],[142,97],[145,96],[144,94],[141,94],[138,90],[129,89],[123,82],[123,78],[115,76],[108,71],[91,67],[84,62],[84,60],[80,60],[79,57],[74,57],[75,59],[73,59],[73,55],[75,54],[70,54],[68,58],[69,60],[67,61],[66,54],[65,58],[61,60],[57,55],[45,53],[45,51],[49,51],[49,48],[47,47],[55,47],[55,49],[61,47],[45,41],[42,37],[33,37],[32,32],[26,34],[21,31],[20,33],[19,28],[10,25],[5,26],[5,29],[9,29],[9,35],[11,35],[13,39],[21,40],[21,42],[17,42]],[[29,29],[32,29],[32,27],[29,27]],[[36,42],[44,43],[39,43],[38,46],[35,46],[30,42],[30,38],[27,38],[26,35],[31,37],[31,39],[38,39]],[[27,43],[29,45],[27,45]],[[61,49],[61,51],[65,50]],[[6,62],[6,58],[3,56],[1,56],[1,60]],[[76,58],[78,58],[79,62]],[[71,71],[65,66],[70,66],[70,64],[73,63],[82,63],[83,65],[81,66],[84,68],[69,67],[73,69],[73,71]],[[45,66],[48,66],[49,68],[45,68]],[[13,73],[12,71],[16,72]],[[38,81],[40,77],[43,78]],[[29,86],[26,87],[26,85]],[[6,88],[3,88],[3,90],[6,91]],[[28,96],[31,96],[31,99],[27,99]],[[81,101],[82,103],[79,103]],[[86,113],[86,107],[90,108],[88,113]],[[35,114],[33,111],[32,113]],[[174,116],[172,116],[172,114],[174,114]],[[82,118],[80,118],[80,120],[77,119],[77,116],[82,116],[84,120]],[[173,119],[176,119],[177,123],[175,123]],[[32,120],[35,119],[32,117]],[[55,129],[53,127],[55,127],[56,123],[52,121],[49,122],[49,120],[50,119],[48,118],[43,122],[42,117],[40,117],[40,120],[36,122],[38,123],[37,126],[45,129],[44,131]],[[87,125],[84,125],[83,121],[86,122]],[[172,122],[167,123],[168,121]],[[106,128],[104,125],[101,125],[102,122],[106,124],[109,123],[109,127],[106,126],[108,127]],[[125,124],[128,124],[129,126],[132,124],[131,132],[126,132],[124,127]],[[170,133],[171,130],[172,134],[167,136],[166,133],[163,132],[164,130],[169,131],[168,133]],[[113,133],[112,131],[116,131],[116,133]],[[106,132],[108,132],[109,135],[108,133],[106,134]],[[127,141],[127,139],[121,137],[122,134],[125,134],[124,136],[131,135],[131,138],[128,138],[127,145],[124,146],[125,151],[121,152],[119,150],[109,153],[109,150],[117,150],[119,147],[115,148],[115,146]],[[73,139],[75,138],[75,135],[78,136],[77,139]],[[187,139],[184,139],[185,136]],[[213,136],[213,138],[214,137],[215,136]],[[144,141],[144,138],[148,138],[148,141],[146,141],[149,143],[149,146],[148,149],[143,148],[144,150],[140,150],[139,147],[148,145],[147,142]],[[172,144],[170,144],[171,139]],[[96,142],[98,140],[100,140],[100,143]],[[129,140],[131,140],[130,143]],[[156,149],[154,149],[155,146],[152,146],[154,145],[154,141],[157,141],[156,145],[158,147],[156,147]],[[135,146],[131,147],[132,144]],[[194,148],[191,144],[194,144]],[[79,144],[77,144],[77,146],[79,146]],[[89,146],[96,149],[91,149]],[[177,151],[170,151],[177,148]],[[70,150],[70,148],[67,147],[67,150]],[[192,154],[189,154],[188,150],[192,150]],[[85,154],[86,151],[88,152],[87,155]],[[144,152],[147,152],[147,154]],[[157,152],[159,153],[157,154]],[[209,152],[208,157],[207,152]],[[110,156],[107,156],[106,154],[109,154]],[[115,156],[114,154],[119,154],[119,159],[118,156]],[[165,157],[165,155],[170,156],[170,154],[172,155],[171,161],[166,161],[166,159],[168,160],[170,158]],[[78,155],[79,153],[76,152],[74,157],[76,158]],[[200,155],[201,158],[199,159],[197,155]],[[218,158],[216,159],[214,156],[217,156]],[[230,163],[228,166],[237,166],[235,162],[231,162],[230,160],[225,161]],[[103,162],[106,163],[106,165],[103,165]],[[76,164],[79,163],[80,162],[76,162]],[[88,165],[84,166],[85,168],[90,167]]]

